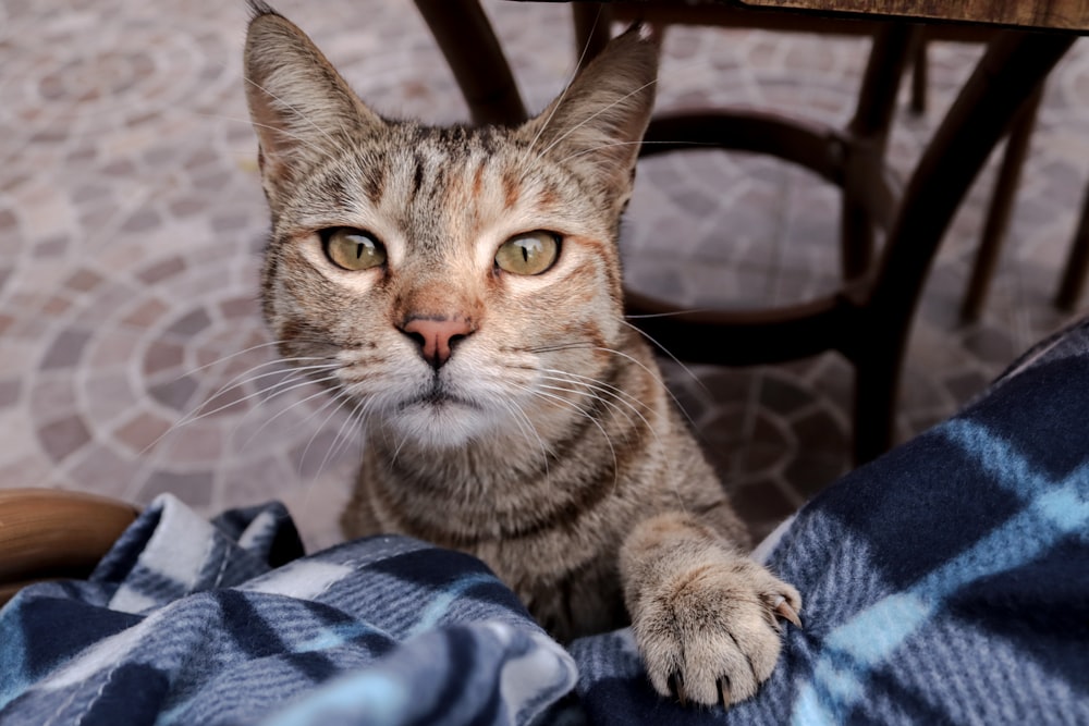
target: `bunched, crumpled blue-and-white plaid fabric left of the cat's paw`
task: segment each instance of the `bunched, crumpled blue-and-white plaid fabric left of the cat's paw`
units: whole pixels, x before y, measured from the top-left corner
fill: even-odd
[[[0,612],[0,723],[525,724],[574,686],[473,557],[383,537],[301,554],[279,504],[209,524],[160,496],[89,581]]]

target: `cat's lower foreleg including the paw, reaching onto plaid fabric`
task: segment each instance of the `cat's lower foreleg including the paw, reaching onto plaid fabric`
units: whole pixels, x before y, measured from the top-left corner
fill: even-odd
[[[641,522],[620,566],[650,680],[682,702],[752,696],[779,660],[779,618],[800,626],[797,590],[687,514]]]

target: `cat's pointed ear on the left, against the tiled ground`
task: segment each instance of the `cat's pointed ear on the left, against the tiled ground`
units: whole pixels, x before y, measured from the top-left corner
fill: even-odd
[[[321,51],[264,2],[252,2],[244,69],[261,176],[274,199],[284,184],[384,122],[352,91]]]

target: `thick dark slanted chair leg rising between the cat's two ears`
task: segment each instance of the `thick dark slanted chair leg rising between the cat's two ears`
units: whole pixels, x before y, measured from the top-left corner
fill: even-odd
[[[477,0],[416,0],[457,81],[473,121],[513,124],[526,107],[495,33]]]

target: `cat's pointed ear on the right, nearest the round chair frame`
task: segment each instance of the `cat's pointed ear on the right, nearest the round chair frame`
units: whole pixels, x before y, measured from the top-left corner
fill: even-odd
[[[654,106],[660,37],[634,25],[612,39],[560,98],[526,123],[537,147],[609,188],[627,189]]]

